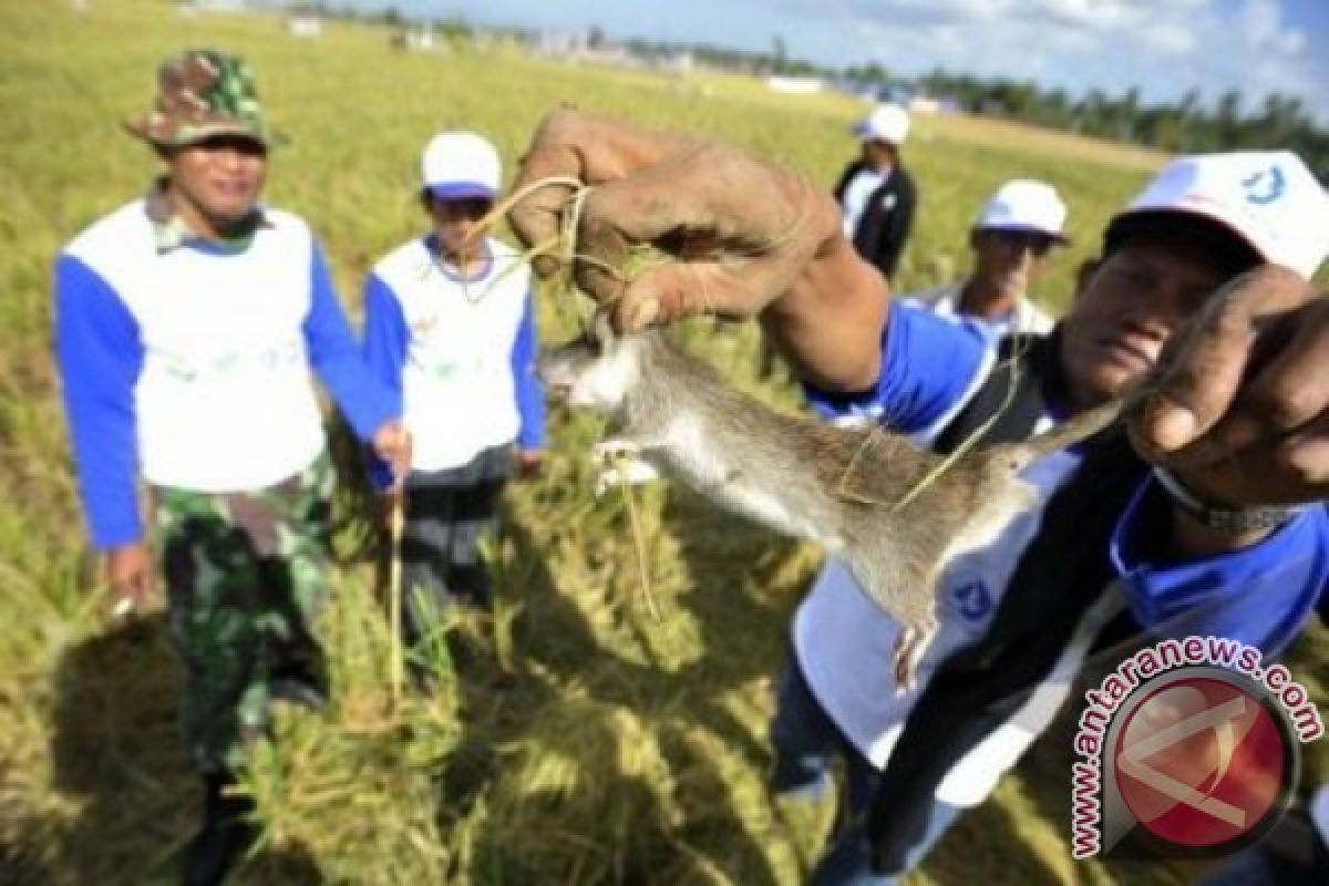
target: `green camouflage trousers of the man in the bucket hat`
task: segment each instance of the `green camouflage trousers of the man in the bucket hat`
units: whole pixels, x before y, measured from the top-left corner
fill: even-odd
[[[258,491],[154,490],[171,638],[186,671],[185,736],[205,772],[245,761],[267,731],[275,685],[326,691],[310,626],[324,591],[335,484],[323,454]]]

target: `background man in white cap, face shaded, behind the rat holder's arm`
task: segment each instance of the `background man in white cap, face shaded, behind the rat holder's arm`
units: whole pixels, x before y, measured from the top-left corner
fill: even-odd
[[[974,271],[968,280],[948,283],[904,298],[941,316],[968,316],[999,339],[1014,331],[1045,335],[1053,319],[1027,298],[1042,276],[1063,232],[1066,205],[1046,182],[1013,179],[991,195],[969,231]]]

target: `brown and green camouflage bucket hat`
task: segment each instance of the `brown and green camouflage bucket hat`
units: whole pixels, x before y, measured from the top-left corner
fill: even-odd
[[[157,102],[125,128],[154,145],[182,147],[211,135],[249,135],[264,147],[283,139],[263,124],[249,65],[213,49],[190,49],[157,69]]]

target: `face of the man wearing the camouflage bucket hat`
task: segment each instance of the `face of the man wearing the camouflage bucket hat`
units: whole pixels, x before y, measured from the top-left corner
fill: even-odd
[[[267,150],[243,135],[214,135],[169,157],[177,211],[202,217],[211,231],[243,221],[258,202],[267,175]],[[179,205],[183,201],[183,206]]]

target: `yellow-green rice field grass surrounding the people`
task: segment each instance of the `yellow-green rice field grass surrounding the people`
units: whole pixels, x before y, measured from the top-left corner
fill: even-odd
[[[49,266],[60,244],[155,171],[120,121],[146,109],[166,54],[210,44],[247,56],[291,146],[268,198],[320,232],[352,313],[363,274],[415,234],[419,150],[445,126],[489,135],[509,170],[557,102],[706,133],[828,187],[863,108],[777,97],[732,77],[686,80],[532,61],[512,50],[389,50],[334,24],[318,41],[253,16],[181,17],[173,4],[0,0],[0,881],[173,882],[197,788],[175,721],[179,672],[162,615],[117,624],[85,553],[49,357]],[[1160,158],[982,121],[921,118],[906,150],[922,191],[904,290],[962,274],[978,205],[1015,175],[1053,181],[1074,246],[1039,287],[1058,308],[1096,231]],[[570,310],[541,303],[546,337]],[[696,323],[688,337],[736,384],[792,406],[755,375],[756,332]],[[552,416],[546,476],[514,487],[489,551],[492,622],[445,624],[437,697],[389,716],[387,642],[339,539],[322,634],[336,701],[282,715],[250,777],[266,825],[249,883],[795,883],[825,809],[772,805],[766,723],[788,618],[816,551],[739,525],[679,489],[638,493],[645,569],[621,498],[589,495],[594,422]],[[343,502],[350,514],[351,497]],[[1322,701],[1322,632],[1298,676]],[[1174,882],[1167,870],[1073,865],[1062,825],[1066,748],[1039,747],[966,816],[916,883]],[[1324,777],[1324,753],[1309,761]],[[319,874],[316,874],[318,871]]]

